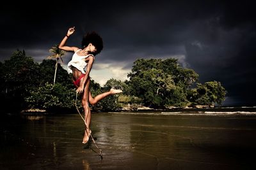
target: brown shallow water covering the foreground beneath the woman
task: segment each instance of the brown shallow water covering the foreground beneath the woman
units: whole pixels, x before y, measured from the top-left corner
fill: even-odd
[[[1,119],[0,169],[255,169],[256,115],[93,113]]]

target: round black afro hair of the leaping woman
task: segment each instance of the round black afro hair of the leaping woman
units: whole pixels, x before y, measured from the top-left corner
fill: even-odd
[[[101,52],[103,48],[103,41],[102,41],[102,38],[99,36],[99,34],[97,34],[95,31],[88,32],[83,36],[82,48],[85,48],[90,43],[92,43],[92,45],[94,45],[95,48],[97,49],[96,52],[92,53],[93,55],[97,55],[98,53]]]

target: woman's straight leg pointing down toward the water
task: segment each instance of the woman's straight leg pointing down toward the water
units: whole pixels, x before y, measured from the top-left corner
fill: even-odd
[[[84,138],[83,143],[87,143],[90,138],[90,122],[91,122],[91,110],[89,107],[89,86],[90,86],[90,80],[86,81],[82,98],[82,106],[84,109],[84,120],[86,122],[86,128],[84,130]]]

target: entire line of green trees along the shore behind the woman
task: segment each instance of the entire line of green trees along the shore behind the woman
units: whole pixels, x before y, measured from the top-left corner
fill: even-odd
[[[55,50],[55,54],[65,54]],[[59,57],[38,63],[24,50],[17,50],[10,59],[0,62],[1,110],[5,113],[28,108],[56,113],[75,111],[76,90],[72,75],[61,67]],[[91,106],[92,110],[116,111],[127,104],[163,109],[197,104],[220,105],[227,94],[218,81],[198,83],[198,74],[193,69],[180,66],[173,58],[138,59],[127,77],[129,80],[125,81],[111,78],[103,87],[92,80],[90,89],[93,96],[111,88],[123,90],[122,95],[106,97]],[[80,102],[77,104],[81,107]]]

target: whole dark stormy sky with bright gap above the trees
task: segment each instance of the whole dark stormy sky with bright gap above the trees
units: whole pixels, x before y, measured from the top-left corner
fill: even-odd
[[[87,31],[103,38],[91,73],[101,85],[127,79],[138,58],[174,57],[200,83],[220,81],[228,92],[224,105],[256,106],[253,1],[6,1],[0,9],[1,62],[17,49],[41,62],[75,26],[67,45],[81,46]],[[71,57],[63,57],[63,67]]]

